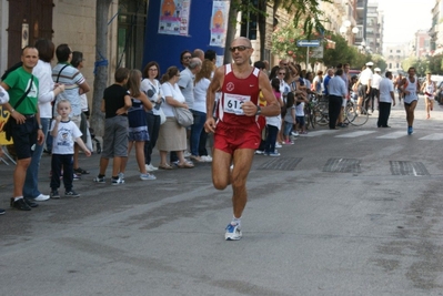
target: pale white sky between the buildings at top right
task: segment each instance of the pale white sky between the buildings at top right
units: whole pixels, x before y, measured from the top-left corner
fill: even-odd
[[[417,30],[430,30],[435,0],[370,0],[384,11],[384,48],[407,43]]]

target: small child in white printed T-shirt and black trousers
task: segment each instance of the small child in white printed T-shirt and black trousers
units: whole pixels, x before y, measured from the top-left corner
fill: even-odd
[[[60,100],[57,103],[57,112],[59,115],[52,120],[50,127],[52,142],[52,160],[51,160],[51,198],[60,198],[60,174],[63,167],[63,184],[66,197],[79,197],[80,194],[72,190],[73,180],[73,153],[74,142],[84,151],[87,156],[91,156],[91,152],[87,149],[81,140],[81,132],[75,123],[70,121],[71,103],[68,100]]]

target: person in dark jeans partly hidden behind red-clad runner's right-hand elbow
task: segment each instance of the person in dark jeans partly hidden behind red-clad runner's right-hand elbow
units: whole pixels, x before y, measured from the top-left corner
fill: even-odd
[[[279,102],[280,106],[283,105],[282,95],[280,92],[280,80],[274,78],[271,80],[272,91]],[[280,153],[275,151],[275,142],[279,134],[279,130],[281,127],[282,119],[281,115],[278,116],[266,116],[266,127],[268,127],[268,136],[266,143],[264,145],[264,153],[268,156],[280,156]]]

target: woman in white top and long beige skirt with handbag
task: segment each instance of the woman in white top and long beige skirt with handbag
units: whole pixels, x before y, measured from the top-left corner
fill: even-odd
[[[184,96],[177,82],[180,79],[180,71],[177,67],[170,67],[161,79],[162,91],[165,99],[162,110],[167,116],[164,124],[160,126],[157,146],[160,151],[159,169],[172,170],[167,162],[169,151],[175,151],[179,157],[179,167],[192,169],[194,165],[184,159],[183,151],[187,150],[187,131],[180,125],[174,116],[174,108],[188,109]]]

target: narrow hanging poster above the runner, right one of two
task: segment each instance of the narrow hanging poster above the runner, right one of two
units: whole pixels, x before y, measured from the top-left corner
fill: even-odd
[[[213,1],[211,17],[211,47],[224,48],[230,1]]]

